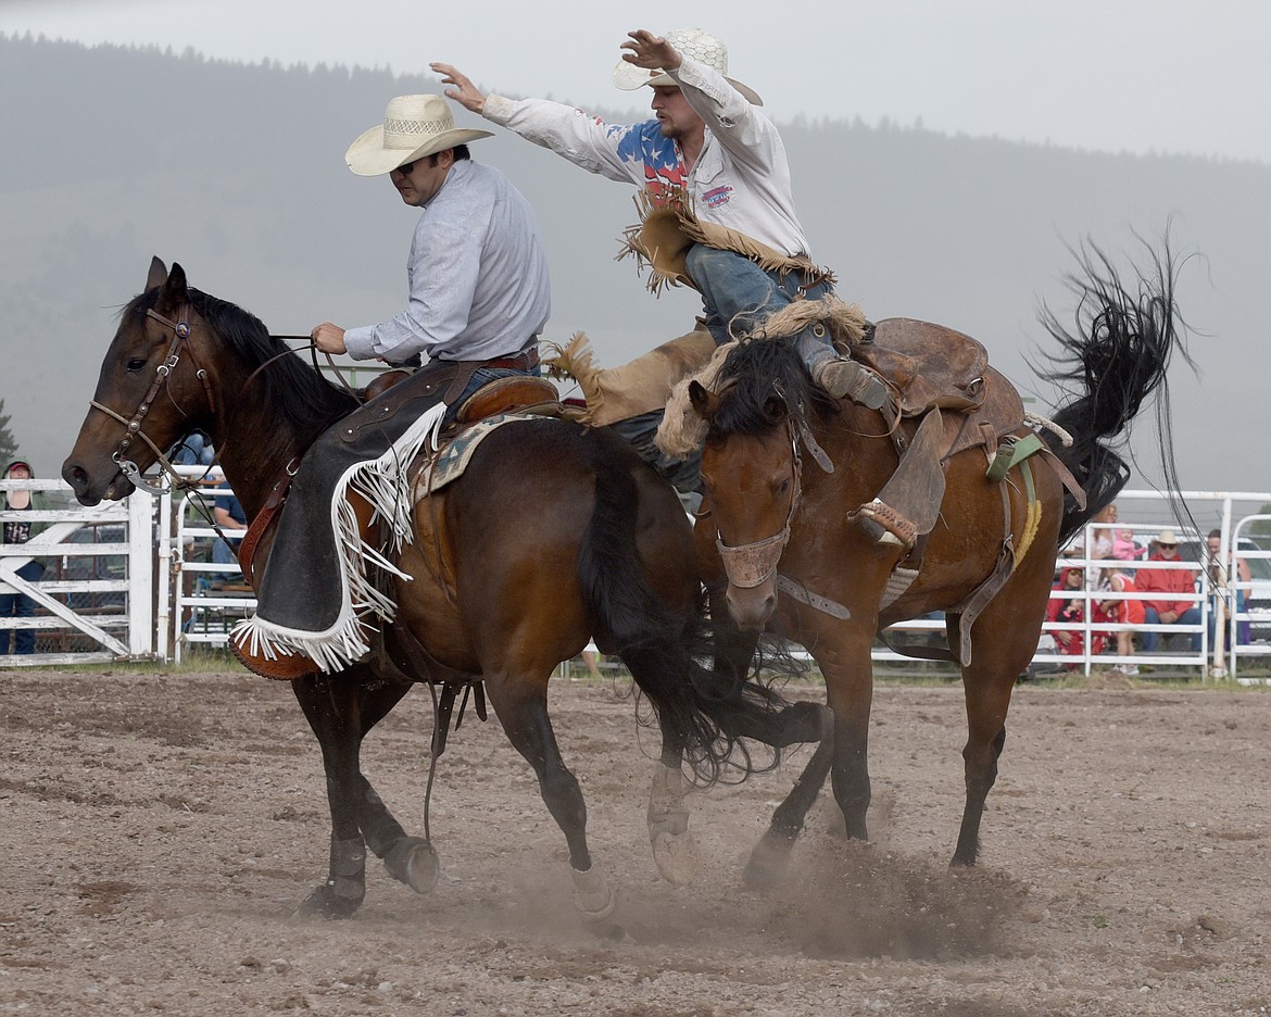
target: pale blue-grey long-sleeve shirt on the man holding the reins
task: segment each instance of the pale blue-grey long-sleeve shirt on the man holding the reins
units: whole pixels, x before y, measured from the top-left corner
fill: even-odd
[[[534,210],[507,177],[470,159],[456,161],[423,206],[407,278],[405,310],[344,332],[355,360],[508,356],[531,345],[552,311]]]

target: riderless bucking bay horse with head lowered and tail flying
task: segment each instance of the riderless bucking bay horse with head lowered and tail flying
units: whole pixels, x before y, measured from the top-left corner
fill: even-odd
[[[966,803],[952,861],[976,861],[1012,689],[1036,651],[1059,550],[1129,477],[1112,442],[1153,394],[1162,397],[1158,408],[1168,406],[1166,372],[1173,351],[1182,348],[1168,245],[1163,259],[1153,256],[1153,271],[1140,276],[1134,294],[1097,248],[1078,257],[1084,271],[1069,277],[1080,297],[1077,333],[1043,311],[1061,346],[1047,355],[1046,376],[1071,383],[1075,395],[1046,435],[1050,454],[1012,465],[1000,482],[986,478],[993,447],[988,456],[982,445],[948,456],[943,500],[933,496],[939,514],[925,549],[918,549],[920,568],[899,595],[888,591],[888,580],[906,549],[876,542],[877,530],[852,517],[897,470],[883,414],[820,392],[789,338],[745,339],[722,362],[710,389],[699,381],[688,385],[691,412],[705,422],[697,536],[702,568],[713,572],[713,610],[731,611],[745,629],[768,627],[816,660],[834,713],[831,783],[852,838],[867,836],[871,646],[892,623],[944,611],[967,714]],[[873,342],[897,339],[894,348],[900,348],[919,324],[933,328],[906,319],[880,322]],[[1187,357],[1186,350],[1181,356]],[[1016,399],[1010,383],[991,369],[981,381],[986,402],[994,392]],[[1022,403],[1014,406],[1021,426],[1012,436],[1033,435]],[[914,422],[900,426],[913,439]],[[1168,420],[1162,426],[1172,475]],[[1052,440],[1057,431],[1070,433],[1069,446]],[[1074,493],[1065,495],[1065,468]],[[1084,493],[1084,505],[1077,493]],[[751,556],[749,568],[741,567],[745,556]],[[976,603],[977,590],[1004,558],[1009,578],[986,604]],[[971,609],[981,610],[967,628],[960,623]],[[784,834],[770,830],[752,853],[749,882],[768,884],[787,863],[801,822],[788,819]]]

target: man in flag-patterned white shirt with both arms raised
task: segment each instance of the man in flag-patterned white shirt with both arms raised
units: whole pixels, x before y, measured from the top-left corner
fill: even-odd
[[[699,28],[665,37],[638,29],[620,48],[614,83],[625,90],[648,86],[653,119],[611,126],[547,99],[482,94],[450,64],[430,67],[450,85],[451,99],[583,169],[636,184],[653,207],[669,195],[686,195],[710,233],[709,242],[686,250],[681,278],[702,292],[717,345],[799,296],[831,294],[833,276],[812,263],[794,211],[785,145],[760,97],[728,76],[723,42]],[[799,352],[830,394],[883,404],[882,380],[838,356],[820,324],[799,333]]]

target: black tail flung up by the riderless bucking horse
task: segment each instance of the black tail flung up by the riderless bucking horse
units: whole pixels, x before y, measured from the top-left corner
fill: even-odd
[[[1084,510],[1070,495],[1065,501],[1061,547],[1125,487],[1130,468],[1121,450],[1134,420],[1149,402],[1155,407],[1167,487],[1171,492],[1179,489],[1168,371],[1176,353],[1193,369],[1195,362],[1186,348],[1187,325],[1174,303],[1178,263],[1168,234],[1160,252],[1145,242],[1144,248],[1150,263],[1145,271],[1135,270],[1135,281],[1129,286],[1099,248],[1087,242],[1074,249],[1080,272],[1065,277],[1077,296],[1074,331],[1069,332],[1045,304],[1038,315],[1060,346],[1059,352],[1043,353],[1049,367],[1038,374],[1073,395],[1054,417],[1073,436],[1073,444],[1052,450],[1085,491]],[[1172,501],[1174,510],[1185,515],[1177,496]]]

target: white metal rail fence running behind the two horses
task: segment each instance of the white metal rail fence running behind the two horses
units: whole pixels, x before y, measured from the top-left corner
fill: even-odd
[[[203,473],[196,467],[178,469],[193,477]],[[51,524],[27,544],[0,544],[0,597],[11,592],[25,595],[34,601],[36,609],[32,618],[0,618],[0,632],[33,629],[37,633],[36,652],[29,655],[4,655],[8,647],[0,642],[0,666],[62,665],[122,657],[180,661],[196,646],[224,647],[234,623],[254,609],[255,599],[243,584],[235,564],[212,561],[212,547],[219,538],[207,520],[212,516],[215,496],[231,493],[212,489],[221,479],[219,470],[207,477],[203,489],[193,500],[174,500],[170,495],[151,497],[137,491],[122,503],[94,508],[72,505],[69,489],[60,481],[0,481],[0,492],[17,488],[43,491],[61,502],[57,508],[42,512],[0,511],[0,522],[22,519]],[[1271,576],[1271,540],[1263,538],[1267,549],[1249,547],[1242,540],[1251,533],[1271,529],[1271,516],[1260,514],[1263,506],[1271,503],[1271,493],[1185,492],[1183,498],[1200,526],[1199,534],[1188,535],[1204,547],[1209,529],[1218,529],[1221,533],[1219,557],[1232,577],[1223,590],[1214,591],[1209,582],[1209,563],[1197,559],[1202,554],[1181,562],[1196,573],[1196,585],[1192,592],[1179,599],[1196,605],[1200,620],[1191,625],[1126,625],[1092,619],[1092,603],[1149,600],[1153,595],[1101,590],[1099,573],[1111,563],[1085,557],[1084,553],[1069,554],[1060,558],[1059,564],[1083,568],[1085,581],[1075,596],[1056,590],[1052,597],[1080,601],[1082,620],[1047,622],[1042,646],[1033,659],[1035,666],[1073,667],[1089,674],[1096,667],[1129,661],[1139,667],[1190,667],[1214,676],[1233,678],[1242,670],[1267,670],[1266,665],[1271,664],[1271,584],[1257,576],[1249,581],[1240,580],[1233,558],[1266,563],[1258,568]],[[202,511],[194,507],[194,501]],[[1162,529],[1179,529],[1169,515],[1167,498],[1159,492],[1126,491],[1118,496],[1117,503],[1121,512],[1117,526],[1131,530],[1143,543]],[[1085,547],[1094,543],[1089,530]],[[226,535],[236,540],[241,531],[226,531]],[[1239,548],[1239,552],[1233,553],[1233,548]],[[37,581],[17,575],[18,568],[32,558],[46,564],[43,577]],[[1117,564],[1132,571],[1162,567],[1141,561]],[[1238,606],[1238,595],[1251,601],[1243,609]],[[1254,638],[1251,642],[1240,641],[1243,623],[1253,625]],[[921,638],[924,634],[943,633],[943,620],[916,619],[894,629]],[[1145,653],[1141,646],[1135,646],[1132,659],[1118,656],[1115,633],[1127,629],[1132,629],[1140,641],[1148,631],[1157,632],[1159,648]],[[1059,652],[1052,637],[1060,631],[1080,632],[1083,652]],[[1104,638],[1102,652],[1094,652],[1099,642],[1096,636],[1110,637]],[[1199,643],[1197,648],[1192,647],[1193,639]],[[874,648],[874,660],[907,659],[880,643]]]

